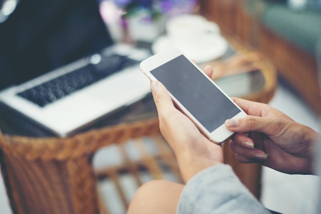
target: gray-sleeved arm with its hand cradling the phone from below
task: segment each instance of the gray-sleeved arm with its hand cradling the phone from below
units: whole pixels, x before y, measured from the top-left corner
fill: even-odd
[[[177,213],[269,213],[239,182],[231,167],[222,164],[222,146],[209,141],[174,107],[164,85],[151,82],[151,89],[160,131],[172,147],[186,182]]]

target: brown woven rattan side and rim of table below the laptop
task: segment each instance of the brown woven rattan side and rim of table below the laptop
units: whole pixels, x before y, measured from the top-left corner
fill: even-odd
[[[0,135],[3,176],[14,213],[99,213],[91,165],[95,151],[158,133],[158,119],[150,119],[71,138]]]

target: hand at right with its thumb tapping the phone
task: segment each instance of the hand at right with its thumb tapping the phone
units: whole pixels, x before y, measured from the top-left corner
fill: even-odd
[[[249,115],[225,122],[227,129],[237,133],[230,148],[239,162],[261,163],[288,174],[313,173],[317,132],[267,104],[233,100]]]

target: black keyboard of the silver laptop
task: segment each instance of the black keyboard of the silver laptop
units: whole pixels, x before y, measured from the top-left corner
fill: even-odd
[[[102,57],[97,64],[90,63],[83,68],[20,92],[18,95],[44,107],[136,63],[138,61],[117,54]]]

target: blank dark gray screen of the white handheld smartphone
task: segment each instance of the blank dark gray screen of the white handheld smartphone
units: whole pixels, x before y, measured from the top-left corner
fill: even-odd
[[[240,110],[183,55],[150,72],[200,122],[213,132]]]

